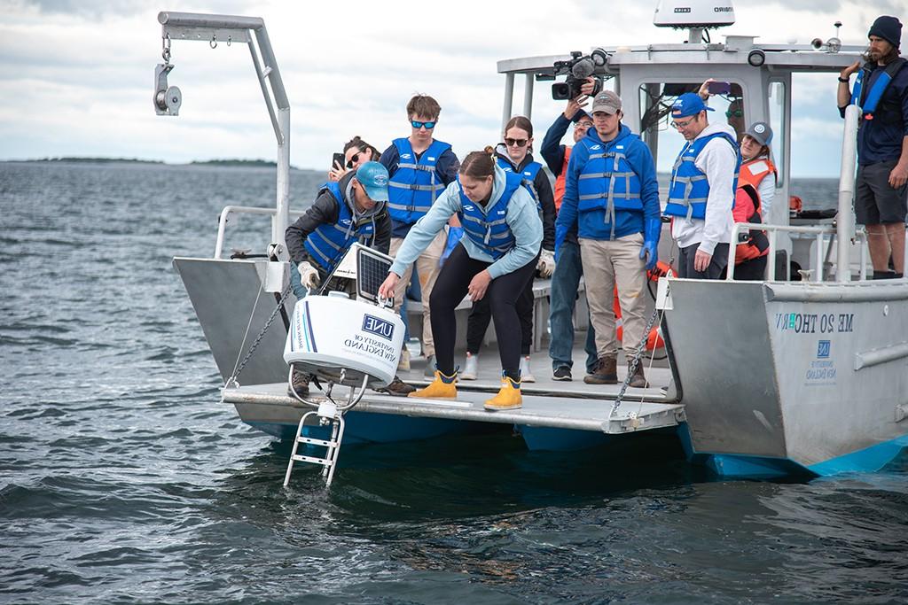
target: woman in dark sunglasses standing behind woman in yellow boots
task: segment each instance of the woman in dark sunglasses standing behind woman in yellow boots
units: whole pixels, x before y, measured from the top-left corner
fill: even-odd
[[[522,115],[511,118],[505,125],[504,142],[498,143],[493,150],[489,147],[498,166],[505,172],[522,174],[529,186],[536,191],[538,209],[542,217],[542,251],[539,253],[537,270],[540,278],[550,278],[555,269],[555,201],[552,198],[552,185],[548,181],[546,171],[542,164],[533,161],[533,124]],[[520,317],[520,380],[522,382],[536,382],[529,361],[530,350],[533,346],[533,280],[530,279],[527,288],[518,298],[517,311]],[[479,371],[479,348],[482,339],[489,328],[491,311],[487,299],[473,303],[467,321],[467,361],[461,380],[476,380]],[[538,329],[544,329],[539,327]]]

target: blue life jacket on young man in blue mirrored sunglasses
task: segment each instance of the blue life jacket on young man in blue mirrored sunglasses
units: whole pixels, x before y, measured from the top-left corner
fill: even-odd
[[[388,211],[391,219],[411,225],[426,215],[432,203],[445,190],[435,171],[439,157],[451,146],[442,141],[432,141],[429,149],[423,151],[419,161],[409,139],[395,139],[398,160],[397,170],[388,181]]]

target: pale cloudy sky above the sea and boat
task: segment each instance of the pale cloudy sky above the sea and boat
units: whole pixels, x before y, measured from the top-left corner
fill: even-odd
[[[496,62],[594,46],[680,43],[652,25],[656,1],[478,0],[403,3],[0,0],[0,160],[128,157],[183,163],[274,160],[276,142],[245,44],[174,41],[169,77],[183,92],[178,117],[152,105],[161,63],[160,10],[261,16],[291,102],[291,164],[326,170],[359,134],[380,150],[410,132],[414,93],[439,100],[436,136],[461,157],[500,140],[504,76]],[[714,32],[758,43],[834,35],[865,44],[877,15],[908,16],[908,0],[738,0],[736,23]],[[908,40],[908,32],[905,33]],[[837,175],[842,121],[831,74],[795,81],[795,177]],[[522,108],[518,78],[514,112]],[[798,87],[798,84],[803,84]],[[537,141],[564,108],[537,83]]]

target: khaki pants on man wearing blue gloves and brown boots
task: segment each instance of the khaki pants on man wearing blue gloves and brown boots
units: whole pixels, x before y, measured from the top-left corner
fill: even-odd
[[[646,329],[646,261],[640,259],[643,234],[612,240],[580,239],[589,318],[596,330],[597,356],[617,355],[614,288],[617,282],[626,356],[635,356]]]

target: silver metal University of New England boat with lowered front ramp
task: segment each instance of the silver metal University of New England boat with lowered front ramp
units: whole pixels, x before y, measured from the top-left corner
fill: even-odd
[[[715,78],[731,84],[731,94],[716,97],[716,115],[736,102],[743,122],[772,125],[780,169],[776,199],[788,200],[793,76],[838,73],[863,48],[843,45],[837,36],[812,44],[757,44],[755,37],[742,35],[712,42],[711,29],[734,23],[731,3],[681,4],[660,2],[654,19],[685,32],[679,44],[603,46],[586,55],[498,62],[498,73],[505,76],[502,124],[513,113],[517,78],[525,82],[522,114],[531,117],[535,83],[573,73],[573,66],[584,62],[625,99],[624,122],[642,133],[660,166],[674,160],[680,148],[679,135],[667,128],[671,102]],[[249,44],[262,85],[278,148],[275,205],[225,207],[213,256],[177,257],[173,266],[224,380],[222,401],[233,405],[243,422],[294,442],[295,455],[301,435],[311,434],[310,424],[325,424],[329,414],[341,413],[302,420],[325,398],[302,401],[286,393],[288,368],[281,354],[297,301],[287,287],[283,232],[299,213],[288,205],[290,103],[280,71],[262,19],[164,12],[158,20],[164,59],[155,70],[159,114],[176,115],[182,102],[180,91],[167,83],[173,42]],[[790,220],[787,204],[778,203],[759,226],[770,239],[764,281],[735,281],[732,275],[719,281],[659,278],[650,308],[651,323],[665,341],[659,351],[664,358],[650,352],[637,360],[646,364],[651,387],[628,389],[627,381],[615,386],[555,383],[537,373],[537,382],[522,387],[522,409],[489,413],[482,401],[498,390],[497,366],[486,366],[475,382],[459,383],[456,401],[382,395],[368,391],[364,382],[355,397],[350,386],[350,401],[357,403],[342,413],[343,443],[502,430],[519,434],[530,449],[577,450],[656,431],[673,435],[692,463],[722,476],[883,468],[908,446],[908,280],[866,279],[865,235],[854,228],[852,210],[857,116],[851,106],[844,121],[837,200],[842,220]],[[228,223],[244,213],[270,217],[269,239],[257,257],[224,259]],[[671,258],[670,245],[664,232],[660,259]],[[537,280],[534,289],[538,348],[548,317],[548,281]],[[577,324],[583,327],[580,295]],[[465,325],[469,304],[461,307],[459,323]],[[548,367],[548,356],[536,355],[535,365],[541,357]],[[575,359],[583,355],[577,347]],[[420,370],[417,363],[401,377],[425,384]]]

